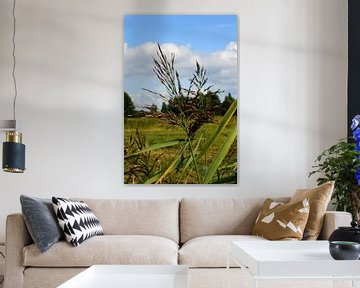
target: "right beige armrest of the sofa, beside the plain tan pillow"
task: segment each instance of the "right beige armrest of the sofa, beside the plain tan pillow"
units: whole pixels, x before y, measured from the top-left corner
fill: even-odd
[[[352,216],[349,212],[326,211],[319,239],[329,239],[331,233],[339,226],[350,226],[351,220]]]

